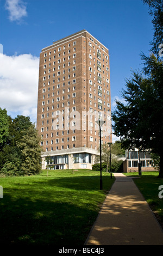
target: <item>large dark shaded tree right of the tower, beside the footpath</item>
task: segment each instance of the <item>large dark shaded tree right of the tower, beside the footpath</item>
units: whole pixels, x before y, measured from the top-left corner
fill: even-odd
[[[152,150],[160,156],[163,176],[163,63],[153,54],[145,57],[142,72],[133,72],[126,81],[122,96],[126,103],[116,101],[112,113],[113,129],[125,148]]]

